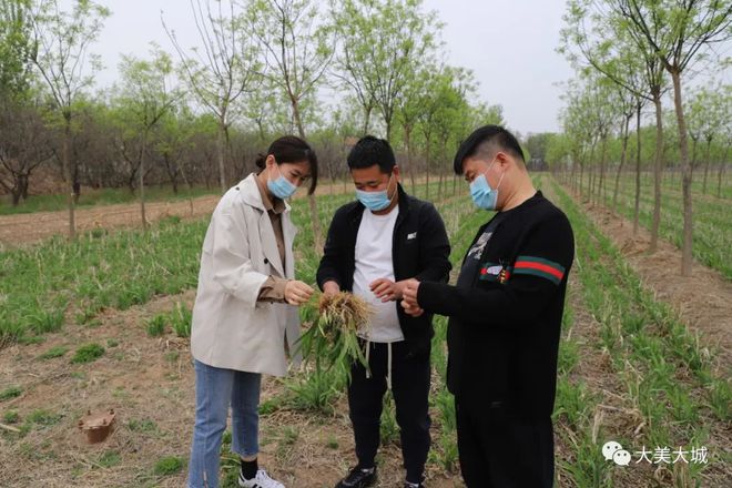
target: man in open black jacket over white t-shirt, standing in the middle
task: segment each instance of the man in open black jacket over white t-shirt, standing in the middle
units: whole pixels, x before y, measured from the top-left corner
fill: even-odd
[[[317,271],[324,293],[353,292],[374,308],[362,333],[368,369],[352,367],[348,406],[358,465],[336,488],[374,485],[384,394],[392,389],[407,470],[406,488],[421,486],[429,451],[430,314],[398,306],[406,279],[446,282],[450,246],[439,214],[405,193],[385,140],[366,136],[348,154],[357,201],[338,209]]]

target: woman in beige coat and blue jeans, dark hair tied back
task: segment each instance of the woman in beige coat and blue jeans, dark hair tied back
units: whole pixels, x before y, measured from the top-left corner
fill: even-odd
[[[286,200],[307,180],[315,191],[317,157],[302,139],[285,136],[257,166],[221,199],[203,242],[191,333],[196,410],[189,488],[218,487],[230,405],[238,485],[284,488],[257,466],[260,382],[263,373],[286,373],[286,352],[299,337],[297,306],[313,294],[294,279],[296,228]]]

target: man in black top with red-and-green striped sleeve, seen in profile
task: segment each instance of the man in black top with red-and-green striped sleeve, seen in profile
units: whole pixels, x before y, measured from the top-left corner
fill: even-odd
[[[476,130],[460,145],[455,172],[470,182],[478,207],[498,213],[478,231],[456,286],[411,279],[403,307],[450,317],[447,382],[467,486],[550,488],[572,230],[535,190],[518,141],[500,126]]]

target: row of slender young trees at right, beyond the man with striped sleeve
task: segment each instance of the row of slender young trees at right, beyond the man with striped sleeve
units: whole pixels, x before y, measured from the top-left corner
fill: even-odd
[[[559,50],[573,63],[578,77],[567,84],[563,134],[551,138],[553,161],[567,170],[578,192],[582,192],[587,173],[588,197],[596,200],[604,196],[610,163],[618,162],[617,199],[620,172],[633,151],[638,222],[642,148],[649,140],[643,136],[643,115],[650,108],[654,114],[650,251],[655,251],[658,243],[662,173],[670,162],[678,162],[684,221],[681,272],[688,276],[692,264],[694,169],[703,162],[705,191],[710,167],[715,164],[721,186],[732,144],[732,89],[713,81],[710,74],[730,67],[730,59],[720,54],[724,50],[716,47],[732,38],[732,4],[722,0],[570,0],[565,22]],[[700,72],[708,84],[689,89]],[[667,96],[673,103],[672,118],[663,110]],[[630,132],[633,123],[634,138]],[[670,128],[675,136],[669,135]],[[609,151],[613,140],[621,148],[616,160]],[[675,151],[671,151],[671,141]],[[704,154],[700,154],[700,146]]]

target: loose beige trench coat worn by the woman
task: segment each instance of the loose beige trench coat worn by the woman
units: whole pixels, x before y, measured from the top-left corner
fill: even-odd
[[[193,306],[191,352],[210,366],[284,376],[285,340],[295,350],[299,314],[295,306],[257,302],[257,296],[270,275],[294,278],[297,230],[286,205],[282,214],[283,268],[255,177],[250,174],[228,190],[211,217]]]

